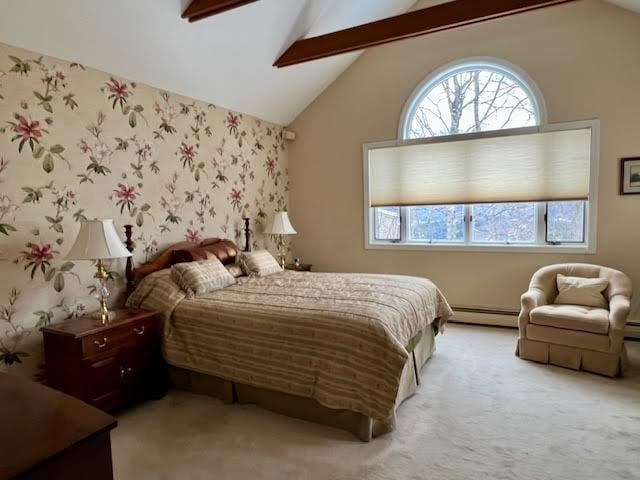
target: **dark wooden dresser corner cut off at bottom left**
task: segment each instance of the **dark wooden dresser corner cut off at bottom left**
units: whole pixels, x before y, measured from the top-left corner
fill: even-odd
[[[0,479],[113,479],[110,431],[115,418],[2,373],[0,406]]]

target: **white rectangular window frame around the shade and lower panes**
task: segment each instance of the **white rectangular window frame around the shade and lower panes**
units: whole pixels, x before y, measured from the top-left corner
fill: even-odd
[[[404,122],[403,122],[404,123]],[[470,205],[465,205],[465,243],[427,243],[408,240],[408,222],[406,221],[406,208],[401,207],[401,240],[386,242],[375,239],[374,209],[370,205],[369,196],[369,150],[382,147],[394,147],[402,145],[416,145],[442,142],[464,141],[473,138],[502,137],[508,135],[521,135],[523,133],[544,133],[580,128],[591,129],[591,162],[589,172],[589,199],[585,201],[585,242],[576,243],[546,243],[546,224],[544,220],[544,206],[546,203],[537,203],[536,207],[536,244],[481,244],[471,243],[471,222],[469,215]],[[475,132],[459,135],[447,135],[439,137],[427,137],[420,139],[390,140],[384,142],[365,143],[362,146],[363,155],[363,180],[364,180],[364,237],[366,249],[395,249],[395,250],[433,250],[433,251],[465,251],[465,252],[528,252],[528,253],[596,253],[596,227],[598,205],[598,170],[600,160],[600,122],[599,120],[584,120],[577,122],[565,122],[556,124],[542,124],[536,127],[524,127],[495,131]]]

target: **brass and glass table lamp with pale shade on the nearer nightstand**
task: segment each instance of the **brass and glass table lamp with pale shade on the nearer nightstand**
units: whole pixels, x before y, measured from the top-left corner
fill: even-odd
[[[82,220],[75,243],[67,254],[69,260],[95,260],[97,271],[94,278],[98,282],[100,311],[96,316],[103,325],[109,323],[107,297],[109,290],[106,280],[109,276],[103,260],[130,257],[131,252],[124,246],[113,226],[113,220]]]

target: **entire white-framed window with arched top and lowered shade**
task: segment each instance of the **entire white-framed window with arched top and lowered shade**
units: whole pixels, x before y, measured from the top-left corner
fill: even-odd
[[[367,246],[593,250],[598,124],[545,125],[525,77],[464,62],[416,90],[400,140],[365,145]]]

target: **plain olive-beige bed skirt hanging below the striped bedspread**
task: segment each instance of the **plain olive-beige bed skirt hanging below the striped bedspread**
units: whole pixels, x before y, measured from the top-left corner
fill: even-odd
[[[420,369],[435,352],[435,335],[434,329],[431,326],[427,327],[409,354],[400,378],[396,410],[404,400],[416,393],[422,384]],[[313,398],[253,387],[171,365],[169,374],[173,385],[181,390],[209,395],[227,404],[256,404],[282,415],[347,430],[363,442],[395,428],[395,416],[393,425],[389,428],[361,413],[325,407]]]

